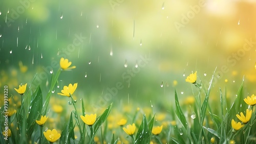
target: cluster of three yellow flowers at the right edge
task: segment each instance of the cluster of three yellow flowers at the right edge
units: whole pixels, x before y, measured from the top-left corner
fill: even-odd
[[[244,99],[244,102],[247,105],[250,106],[254,106],[256,104],[256,97],[254,96],[254,94],[251,95],[251,97],[247,97]],[[237,114],[237,118],[242,122],[235,122],[234,119],[232,119],[231,121],[231,126],[234,130],[240,130],[242,127],[244,127],[245,124],[247,124],[250,121],[251,118],[251,114],[252,114],[252,110],[246,109],[246,115],[243,114],[243,112],[239,114]]]

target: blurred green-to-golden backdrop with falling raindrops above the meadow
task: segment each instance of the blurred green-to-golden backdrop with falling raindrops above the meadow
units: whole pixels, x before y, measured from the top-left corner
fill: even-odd
[[[210,99],[219,99],[219,87],[234,99],[243,76],[245,92],[256,91],[254,1],[1,0],[0,11],[0,86],[12,95],[36,73],[46,95],[61,57],[76,68],[61,73],[53,95],[77,82],[76,97],[96,106],[168,107],[174,89],[181,99],[193,95],[191,71],[207,86],[216,67]],[[148,63],[137,67],[141,57]]]

